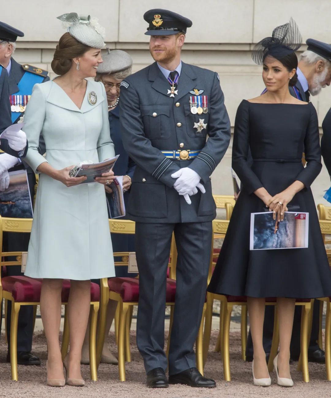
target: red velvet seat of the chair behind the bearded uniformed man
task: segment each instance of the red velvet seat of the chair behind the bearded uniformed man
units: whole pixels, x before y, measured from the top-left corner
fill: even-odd
[[[123,302],[137,302],[139,300],[139,279],[114,277],[108,279],[109,289],[118,293]],[[166,280],[166,302],[174,302],[176,295],[176,281]]]

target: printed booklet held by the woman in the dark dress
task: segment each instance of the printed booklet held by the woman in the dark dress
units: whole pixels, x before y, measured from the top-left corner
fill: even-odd
[[[272,211],[251,213],[250,250],[308,247],[309,213],[286,211],[283,221]]]

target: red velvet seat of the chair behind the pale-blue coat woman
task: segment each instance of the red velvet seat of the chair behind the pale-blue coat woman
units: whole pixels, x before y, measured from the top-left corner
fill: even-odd
[[[42,279],[33,279],[24,275],[2,278],[2,289],[12,293],[16,302],[39,302]],[[61,293],[62,302],[67,302],[70,291],[70,280],[64,279]],[[100,286],[91,282],[91,301],[100,300]]]

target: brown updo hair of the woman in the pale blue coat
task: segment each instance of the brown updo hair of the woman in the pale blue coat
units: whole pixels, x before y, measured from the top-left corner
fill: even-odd
[[[72,65],[72,58],[81,57],[90,47],[80,43],[69,32],[61,36],[57,44],[51,68],[58,75],[69,72]]]

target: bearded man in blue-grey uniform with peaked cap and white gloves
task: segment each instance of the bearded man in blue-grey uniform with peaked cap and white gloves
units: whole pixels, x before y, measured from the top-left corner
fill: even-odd
[[[217,73],[180,59],[192,22],[160,9],[147,11],[144,19],[156,62],[121,82],[119,101],[123,144],[137,164],[127,208],[136,222],[137,345],[149,387],[214,387],[196,369],[193,345],[216,216],[210,175],[229,145],[229,117]],[[172,232],[178,261],[167,379],[164,314]]]

